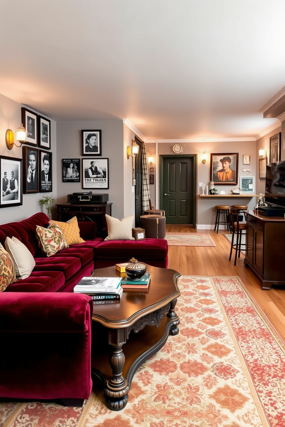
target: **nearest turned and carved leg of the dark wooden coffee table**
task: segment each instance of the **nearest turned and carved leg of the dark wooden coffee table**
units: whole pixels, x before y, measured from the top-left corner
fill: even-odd
[[[126,343],[126,329],[109,329],[109,344],[112,345],[112,353],[109,363],[112,368],[112,379],[105,388],[105,400],[113,411],[123,409],[128,401],[129,384],[122,375],[125,363],[125,355],[122,346]]]

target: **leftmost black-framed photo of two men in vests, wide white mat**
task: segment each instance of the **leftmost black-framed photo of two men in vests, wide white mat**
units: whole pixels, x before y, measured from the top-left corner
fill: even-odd
[[[0,208],[22,205],[22,159],[0,156],[0,175]]]

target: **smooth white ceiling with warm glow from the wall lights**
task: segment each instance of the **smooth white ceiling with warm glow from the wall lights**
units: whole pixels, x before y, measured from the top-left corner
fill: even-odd
[[[285,86],[284,0],[0,0],[0,93],[149,139],[256,137]],[[274,126],[273,126],[274,127]]]

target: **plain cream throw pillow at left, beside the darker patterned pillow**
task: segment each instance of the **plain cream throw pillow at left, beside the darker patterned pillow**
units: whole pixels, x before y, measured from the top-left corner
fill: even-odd
[[[6,237],[5,249],[11,256],[16,272],[17,279],[26,279],[32,272],[35,266],[35,260],[26,248],[24,243],[20,242],[16,237]]]

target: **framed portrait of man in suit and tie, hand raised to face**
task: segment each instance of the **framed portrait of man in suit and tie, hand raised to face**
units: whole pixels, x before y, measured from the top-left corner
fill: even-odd
[[[37,148],[22,147],[23,155],[23,193],[38,193],[38,158]]]

